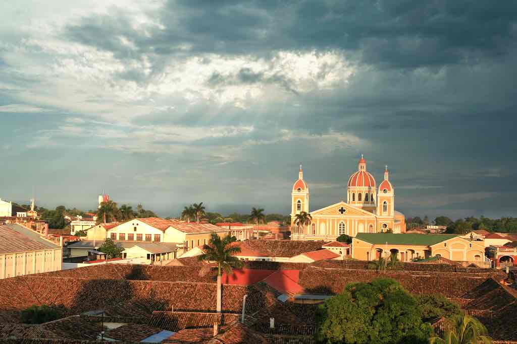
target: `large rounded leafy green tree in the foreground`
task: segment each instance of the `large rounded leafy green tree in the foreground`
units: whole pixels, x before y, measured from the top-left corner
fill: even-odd
[[[348,284],[318,307],[317,325],[326,343],[424,343],[432,333],[417,300],[391,279]]]

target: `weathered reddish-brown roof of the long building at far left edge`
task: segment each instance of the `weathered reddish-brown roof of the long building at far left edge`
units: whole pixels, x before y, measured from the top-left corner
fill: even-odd
[[[58,248],[58,245],[18,224],[0,225],[0,254]]]

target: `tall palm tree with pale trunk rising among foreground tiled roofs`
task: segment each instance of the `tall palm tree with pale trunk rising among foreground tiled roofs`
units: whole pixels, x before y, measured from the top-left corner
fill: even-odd
[[[236,253],[240,253],[240,248],[232,245],[235,239],[230,235],[226,235],[223,239],[216,233],[210,235],[208,244],[203,245],[204,254],[198,256],[199,260],[215,261],[217,263],[217,313],[221,313],[221,275],[222,270],[226,274],[232,272],[232,267],[242,267],[242,262],[235,257]]]

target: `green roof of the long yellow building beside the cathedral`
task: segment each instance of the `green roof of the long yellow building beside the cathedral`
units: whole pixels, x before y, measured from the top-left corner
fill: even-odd
[[[457,237],[455,234],[393,234],[393,233],[357,233],[356,239],[372,244],[421,245],[431,246]]]

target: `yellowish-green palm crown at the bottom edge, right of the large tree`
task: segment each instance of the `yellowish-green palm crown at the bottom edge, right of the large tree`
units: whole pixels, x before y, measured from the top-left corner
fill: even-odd
[[[464,315],[452,331],[446,331],[444,338],[431,337],[430,344],[491,344],[486,327],[478,319]]]

